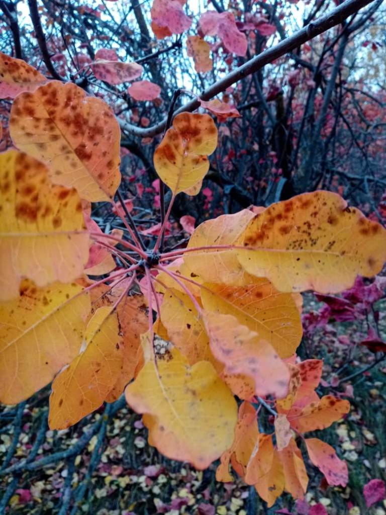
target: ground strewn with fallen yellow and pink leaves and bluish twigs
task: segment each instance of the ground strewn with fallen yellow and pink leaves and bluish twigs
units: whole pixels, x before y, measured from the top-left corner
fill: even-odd
[[[363,303],[346,304],[345,311],[338,304],[306,295],[299,354],[324,359],[319,393],[332,389],[352,405],[344,420],[310,435],[323,438],[347,461],[346,488],[328,487],[307,461],[305,500],[284,495],[267,508],[236,474],[234,483],[217,482],[218,462],[201,472],[161,456],[148,445],[141,416],[124,399],[68,430],[49,431],[46,388],[0,414],[0,513],[384,515],[386,364],[383,353],[360,344],[369,340],[374,322],[384,340],[386,303],[381,298],[364,311]],[[352,308],[356,313],[349,313]],[[270,416],[261,410],[261,423]]]

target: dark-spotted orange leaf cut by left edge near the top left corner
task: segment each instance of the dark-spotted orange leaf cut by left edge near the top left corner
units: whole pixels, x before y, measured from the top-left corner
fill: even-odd
[[[0,98],[15,98],[23,91],[34,91],[47,79],[22,59],[0,52]]]

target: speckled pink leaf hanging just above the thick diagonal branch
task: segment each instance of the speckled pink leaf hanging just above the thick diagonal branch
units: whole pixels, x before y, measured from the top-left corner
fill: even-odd
[[[229,52],[237,56],[247,54],[247,37],[237,28],[235,16],[231,12],[204,12],[199,24],[204,35],[218,36]]]

